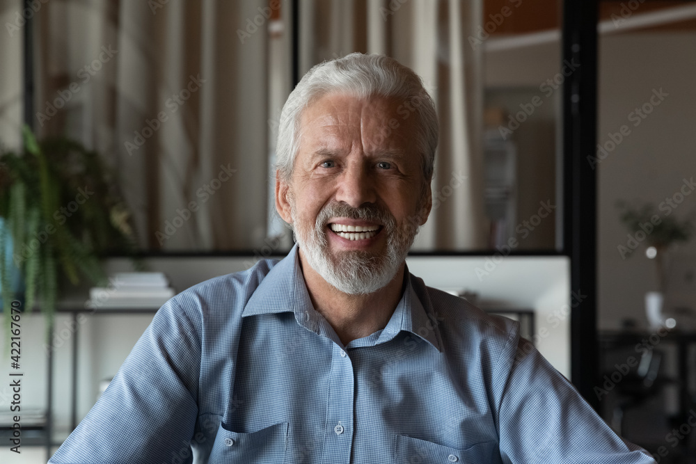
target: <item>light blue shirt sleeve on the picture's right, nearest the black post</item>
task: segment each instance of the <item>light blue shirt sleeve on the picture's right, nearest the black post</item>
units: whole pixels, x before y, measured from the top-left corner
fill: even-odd
[[[499,368],[509,372],[498,408],[504,463],[656,463],[614,433],[528,340],[519,338]]]

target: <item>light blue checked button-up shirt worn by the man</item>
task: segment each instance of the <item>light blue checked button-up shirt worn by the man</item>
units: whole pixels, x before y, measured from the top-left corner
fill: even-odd
[[[406,270],[382,330],[344,346],[297,246],[155,314],[50,463],[654,463],[519,336]]]

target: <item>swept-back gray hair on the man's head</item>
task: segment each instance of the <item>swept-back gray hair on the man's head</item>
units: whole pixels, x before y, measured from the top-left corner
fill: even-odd
[[[438,143],[438,118],[435,103],[422,85],[418,74],[389,56],[351,53],[315,65],[287,97],[278,124],[276,166],[280,179],[290,180],[299,149],[302,111],[320,97],[342,93],[361,99],[375,95],[393,97],[402,102],[408,118],[417,118],[416,149],[421,155],[422,173],[429,184],[432,179],[435,149]],[[398,110],[397,110],[398,111]]]

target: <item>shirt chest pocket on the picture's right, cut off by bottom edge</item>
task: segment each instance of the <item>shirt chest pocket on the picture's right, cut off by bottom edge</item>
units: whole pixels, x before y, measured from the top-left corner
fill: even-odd
[[[486,442],[455,449],[426,440],[396,435],[395,463],[404,464],[502,464],[498,443]]]

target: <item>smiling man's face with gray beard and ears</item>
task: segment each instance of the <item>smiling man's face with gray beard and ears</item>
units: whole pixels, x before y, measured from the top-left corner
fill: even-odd
[[[300,253],[331,285],[367,294],[390,282],[430,211],[416,117],[399,102],[324,95],[303,112],[290,184],[278,211]]]

